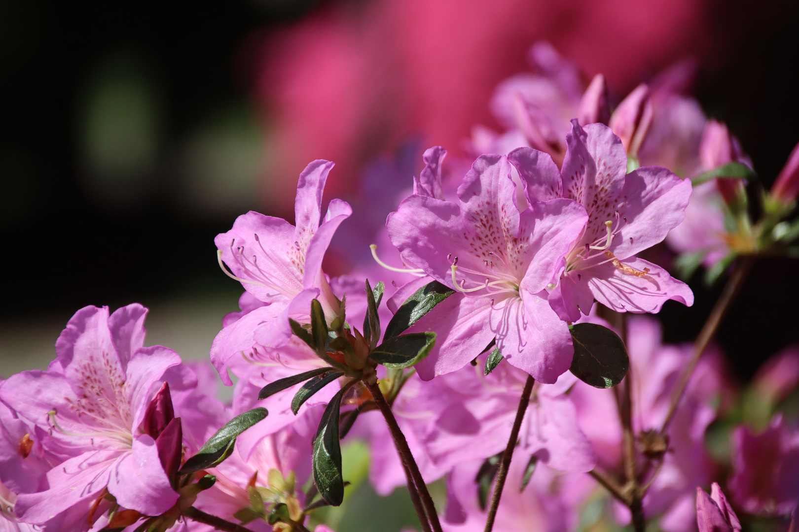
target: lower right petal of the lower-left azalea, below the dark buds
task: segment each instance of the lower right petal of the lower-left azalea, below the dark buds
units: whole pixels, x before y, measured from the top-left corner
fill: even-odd
[[[177,502],[177,493],[158,458],[155,440],[142,434],[133,440],[133,451],[111,468],[108,491],[120,506],[145,515],[158,515]]]

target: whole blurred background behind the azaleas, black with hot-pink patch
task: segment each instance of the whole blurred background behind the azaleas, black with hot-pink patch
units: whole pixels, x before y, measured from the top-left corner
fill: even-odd
[[[217,233],[250,209],[291,220],[317,158],[336,161],[327,199],[357,203],[386,190],[360,186],[380,164],[400,190],[421,149],[463,154],[538,39],[617,96],[693,57],[768,186],[799,141],[797,27],[777,0],[0,0],[0,375],[45,367],[89,304],[140,301],[148,343],[207,357],[240,294]],[[718,337],[735,378],[799,340],[797,273],[756,266]],[[692,287],[666,341],[720,291]]]

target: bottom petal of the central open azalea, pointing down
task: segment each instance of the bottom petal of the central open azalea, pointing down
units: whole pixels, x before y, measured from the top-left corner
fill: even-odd
[[[569,328],[551,309],[544,291],[523,294],[518,306],[508,313],[512,314],[508,333],[502,338],[497,335],[497,346],[509,364],[539,382],[555,383],[574,355]]]

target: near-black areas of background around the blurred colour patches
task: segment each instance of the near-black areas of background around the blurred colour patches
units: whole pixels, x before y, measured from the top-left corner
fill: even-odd
[[[235,213],[187,210],[169,153],[197,116],[247,104],[252,42],[323,5],[0,0],[0,318],[239,291],[220,274],[213,245]],[[729,124],[768,186],[799,141],[799,11],[788,2],[724,2],[717,11],[729,44],[703,69],[698,98]],[[98,199],[86,177],[81,112],[97,65],[125,53],[155,87],[160,140],[147,185],[120,203]],[[755,266],[719,333],[737,376],[799,341],[797,273],[795,261]],[[661,314],[667,341],[693,339],[718,297],[720,287],[707,290],[699,276],[691,284],[694,307],[670,302]]]

